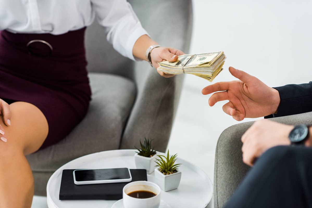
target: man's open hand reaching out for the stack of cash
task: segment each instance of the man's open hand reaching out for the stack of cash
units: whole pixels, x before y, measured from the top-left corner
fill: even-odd
[[[257,118],[276,113],[280,104],[279,92],[268,87],[258,78],[229,67],[230,73],[237,81],[218,82],[202,89],[202,94],[214,93],[209,98],[209,105],[228,100],[222,109],[236,121],[244,118]],[[218,92],[223,91],[223,92]]]

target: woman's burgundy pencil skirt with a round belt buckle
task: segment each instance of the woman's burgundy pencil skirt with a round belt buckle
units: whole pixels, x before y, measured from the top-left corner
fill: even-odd
[[[49,132],[40,149],[66,137],[87,112],[84,35],[85,28],[63,35],[0,31],[0,98],[42,111]]]

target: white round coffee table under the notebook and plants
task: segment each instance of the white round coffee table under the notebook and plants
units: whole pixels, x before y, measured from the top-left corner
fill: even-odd
[[[59,200],[62,170],[88,168],[131,168],[135,169],[133,149],[110,150],[85,155],[66,163],[57,169],[50,177],[47,187],[47,203],[49,208],[111,208],[117,200]],[[212,207],[213,187],[207,174],[197,166],[178,158],[182,163],[179,170],[182,172],[178,189],[162,191],[161,198],[172,208]],[[147,180],[155,182],[154,172],[147,175]]]

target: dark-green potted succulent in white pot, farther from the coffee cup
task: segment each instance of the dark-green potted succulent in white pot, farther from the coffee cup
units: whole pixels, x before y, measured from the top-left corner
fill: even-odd
[[[155,159],[157,151],[154,150],[154,147],[152,148],[152,141],[153,139],[149,140],[145,138],[144,145],[140,140],[141,149],[135,147],[135,149],[139,151],[134,155],[135,166],[138,169],[145,169],[147,174],[153,173],[156,165]]]

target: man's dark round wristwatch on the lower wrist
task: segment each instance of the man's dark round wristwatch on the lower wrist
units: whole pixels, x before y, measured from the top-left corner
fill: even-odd
[[[296,125],[290,131],[288,138],[292,145],[304,145],[305,140],[309,138],[309,126],[304,124]]]

